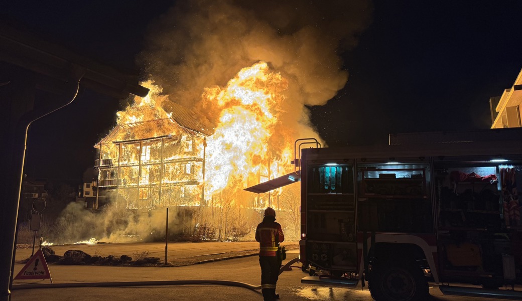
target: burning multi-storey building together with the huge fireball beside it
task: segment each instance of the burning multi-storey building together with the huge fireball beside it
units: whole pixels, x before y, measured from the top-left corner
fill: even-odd
[[[117,125],[94,146],[99,198],[110,195],[109,202],[138,212],[175,208],[184,233],[207,225],[218,239],[249,233],[267,206],[288,211],[280,221],[291,215],[297,227],[298,187],[291,196],[243,190],[293,172],[293,141],[301,133],[283,123],[286,79],[258,62],[226,87],[205,89],[194,106],[201,113],[152,82],[144,85],[149,95],[117,112]]]

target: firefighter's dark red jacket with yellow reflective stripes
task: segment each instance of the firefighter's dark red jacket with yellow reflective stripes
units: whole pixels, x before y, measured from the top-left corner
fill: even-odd
[[[257,225],[256,241],[259,242],[259,256],[276,256],[278,243],[284,241],[281,225],[265,218]]]

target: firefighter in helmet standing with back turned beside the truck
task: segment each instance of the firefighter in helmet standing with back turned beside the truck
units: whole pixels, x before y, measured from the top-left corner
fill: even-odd
[[[259,266],[261,266],[261,291],[266,300],[279,298],[276,283],[279,278],[281,260],[277,258],[278,243],[284,240],[281,225],[276,222],[276,210],[265,209],[263,222],[257,225],[256,240],[259,242]]]

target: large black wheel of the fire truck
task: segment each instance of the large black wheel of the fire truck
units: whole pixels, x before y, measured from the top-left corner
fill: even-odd
[[[407,261],[385,261],[372,267],[368,288],[376,301],[419,301],[429,295],[422,270]]]

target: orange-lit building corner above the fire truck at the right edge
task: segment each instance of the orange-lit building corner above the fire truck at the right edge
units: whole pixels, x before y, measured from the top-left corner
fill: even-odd
[[[522,104],[522,70],[513,87],[505,89],[501,97],[490,98],[491,128],[521,127],[520,104]]]

